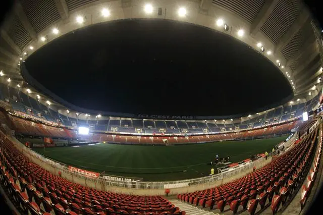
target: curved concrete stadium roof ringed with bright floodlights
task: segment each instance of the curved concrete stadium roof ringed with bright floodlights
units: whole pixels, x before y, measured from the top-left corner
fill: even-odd
[[[50,45],[60,36],[92,24],[154,18],[204,26],[249,45],[276,65],[294,88],[295,100],[309,100],[320,91],[319,47],[311,15],[300,0],[165,0],[149,3],[151,8],[145,8],[147,1],[131,0],[16,1],[13,12],[1,28],[0,68],[6,79],[10,77],[19,82],[21,88],[32,88],[21,77],[20,66],[45,44]],[[228,31],[224,29],[225,24],[229,26]],[[264,52],[260,50],[262,46]]]

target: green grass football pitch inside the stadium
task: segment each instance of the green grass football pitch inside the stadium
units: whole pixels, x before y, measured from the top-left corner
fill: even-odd
[[[287,136],[247,141],[223,141],[174,146],[100,143],[80,147],[34,148],[59,162],[98,173],[168,181],[207,176],[215,156],[240,162],[251,154],[270,152]],[[32,142],[32,140],[30,140]]]

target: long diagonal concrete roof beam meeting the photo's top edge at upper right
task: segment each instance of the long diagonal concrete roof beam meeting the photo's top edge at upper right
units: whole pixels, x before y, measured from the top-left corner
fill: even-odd
[[[267,18],[271,15],[274,8],[276,7],[279,0],[267,0],[263,4],[261,10],[259,11],[256,18],[251,23],[250,34],[251,36],[255,36],[257,32],[260,30],[263,23],[267,20]]]

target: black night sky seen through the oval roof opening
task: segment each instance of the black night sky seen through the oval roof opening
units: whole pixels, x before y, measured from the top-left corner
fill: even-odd
[[[99,111],[243,114],[292,93],[277,67],[244,43],[165,20],[75,31],[36,51],[26,67],[66,101]]]

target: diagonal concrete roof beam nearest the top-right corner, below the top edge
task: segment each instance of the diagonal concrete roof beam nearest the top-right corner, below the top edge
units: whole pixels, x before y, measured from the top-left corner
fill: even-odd
[[[277,43],[275,52],[279,53],[280,50],[285,47],[294,38],[297,32],[300,31],[301,28],[308,22],[310,22],[309,13],[305,8],[303,8],[303,10],[298,14],[292,26]]]

